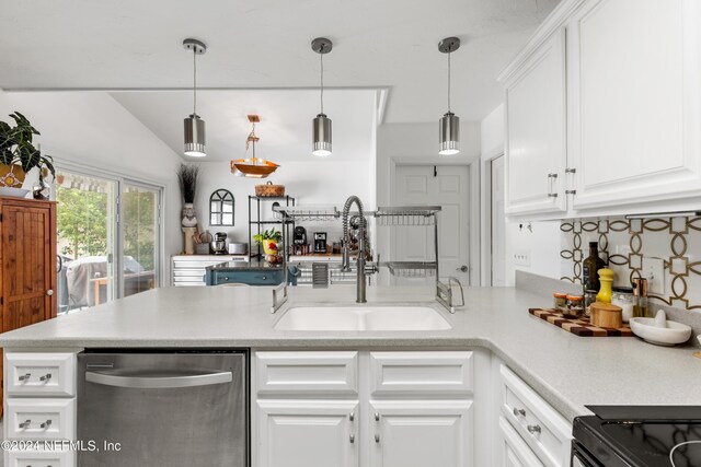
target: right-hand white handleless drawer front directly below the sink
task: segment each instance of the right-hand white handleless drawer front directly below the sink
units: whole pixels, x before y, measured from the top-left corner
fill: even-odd
[[[370,352],[370,393],[470,395],[473,360],[472,352]]]

